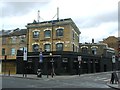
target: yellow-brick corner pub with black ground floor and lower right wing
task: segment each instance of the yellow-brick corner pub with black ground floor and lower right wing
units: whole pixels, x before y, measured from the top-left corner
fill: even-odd
[[[26,27],[27,60],[23,60],[23,51],[18,50],[18,74],[23,73],[25,67],[28,74],[36,74],[40,68],[43,74],[54,71],[56,75],[96,73],[115,68],[112,63],[114,49],[106,44],[94,43],[94,39],[92,43],[79,43],[81,32],[71,18],[34,21]]]

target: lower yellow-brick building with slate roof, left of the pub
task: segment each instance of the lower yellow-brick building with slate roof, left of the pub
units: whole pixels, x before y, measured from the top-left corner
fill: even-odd
[[[26,47],[27,29],[2,30],[1,31],[1,52],[2,72],[16,73],[16,55],[17,50],[23,50]]]

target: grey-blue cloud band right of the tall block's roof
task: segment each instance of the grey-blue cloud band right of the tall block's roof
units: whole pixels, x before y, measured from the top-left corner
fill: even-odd
[[[108,12],[106,14],[91,16],[91,17],[84,17],[84,18],[75,18],[77,24],[79,24],[80,28],[91,28],[91,27],[98,27],[101,23],[107,22],[117,22],[117,10],[113,12]]]

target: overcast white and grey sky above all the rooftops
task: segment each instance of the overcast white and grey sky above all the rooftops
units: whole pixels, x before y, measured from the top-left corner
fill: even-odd
[[[24,29],[27,23],[71,18],[79,28],[80,43],[118,37],[118,2],[120,0],[0,0],[0,30]],[[54,18],[53,18],[54,17]]]

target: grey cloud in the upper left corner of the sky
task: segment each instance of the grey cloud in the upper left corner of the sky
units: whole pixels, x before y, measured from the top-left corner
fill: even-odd
[[[43,7],[48,2],[3,2],[1,6],[2,18],[11,16],[22,16],[35,10],[36,7]],[[37,11],[37,10],[36,10]]]

